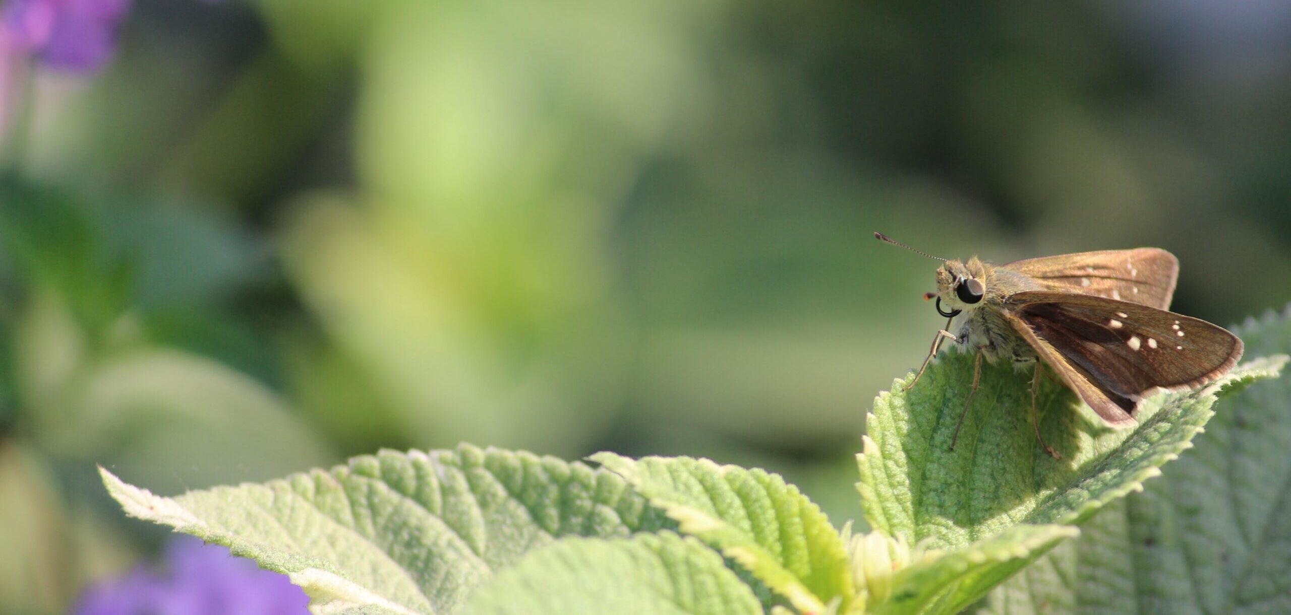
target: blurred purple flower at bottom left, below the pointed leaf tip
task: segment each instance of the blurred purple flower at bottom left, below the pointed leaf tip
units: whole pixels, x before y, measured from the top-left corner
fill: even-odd
[[[309,598],[287,576],[259,570],[229,549],[178,538],[167,548],[168,571],[137,567],[81,596],[72,615],[305,615]]]

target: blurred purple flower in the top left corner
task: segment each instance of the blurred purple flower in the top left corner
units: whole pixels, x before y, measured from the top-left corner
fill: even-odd
[[[0,15],[9,43],[68,71],[94,71],[112,58],[129,0],[9,0]]]

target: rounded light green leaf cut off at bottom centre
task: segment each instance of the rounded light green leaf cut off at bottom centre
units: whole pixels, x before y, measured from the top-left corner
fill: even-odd
[[[498,572],[471,615],[639,612],[760,614],[762,605],[713,549],[673,532],[567,539]]]

